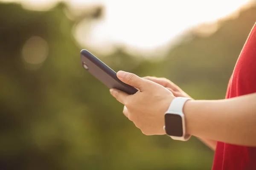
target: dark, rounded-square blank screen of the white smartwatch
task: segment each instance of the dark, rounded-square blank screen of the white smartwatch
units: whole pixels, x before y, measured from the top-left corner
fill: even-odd
[[[169,136],[183,136],[182,117],[177,114],[165,114],[165,128]]]

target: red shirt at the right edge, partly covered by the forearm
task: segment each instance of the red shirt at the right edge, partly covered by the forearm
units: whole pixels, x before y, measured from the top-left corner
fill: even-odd
[[[236,62],[226,98],[252,93],[256,93],[256,24]],[[212,170],[256,170],[256,147],[217,142]]]

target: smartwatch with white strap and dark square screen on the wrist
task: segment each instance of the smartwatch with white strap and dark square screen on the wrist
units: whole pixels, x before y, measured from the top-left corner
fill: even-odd
[[[191,100],[187,97],[176,97],[172,100],[168,111],[164,115],[166,134],[172,139],[187,141],[191,135],[186,134],[186,122],[183,113],[183,106],[186,101]]]

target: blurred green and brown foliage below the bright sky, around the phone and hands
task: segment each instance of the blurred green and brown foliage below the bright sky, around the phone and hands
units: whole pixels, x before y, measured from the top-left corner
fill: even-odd
[[[97,20],[101,10],[84,18]],[[81,18],[66,13],[63,3],[49,11],[0,3],[0,169],[210,169],[214,153],[198,139],[144,136],[122,115],[108,88],[81,67],[80,50],[86,47],[72,34]],[[118,48],[105,57],[92,52],[116,71],[166,77],[195,99],[222,99],[255,20],[252,7],[220,21],[209,37],[190,32],[166,56],[157,56],[160,61]],[[32,36],[49,46],[44,63],[33,67],[22,59]]]

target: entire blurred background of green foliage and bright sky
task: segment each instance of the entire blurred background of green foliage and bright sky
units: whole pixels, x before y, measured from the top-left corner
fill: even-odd
[[[80,63],[166,77],[223,99],[255,1],[0,1],[1,170],[206,170],[192,137],[145,136]]]

